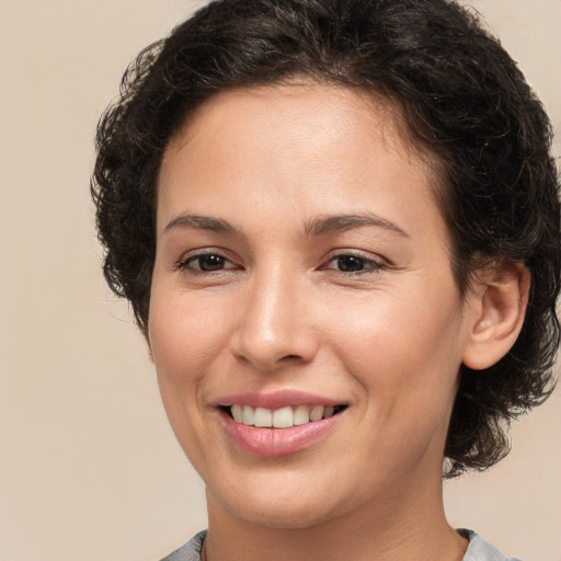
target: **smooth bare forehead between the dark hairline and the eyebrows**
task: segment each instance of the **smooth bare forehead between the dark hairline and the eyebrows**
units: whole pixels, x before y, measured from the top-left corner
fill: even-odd
[[[185,210],[231,214],[248,197],[255,224],[257,214],[283,211],[300,224],[341,209],[408,214],[412,191],[435,214],[433,168],[403,122],[396,104],[342,87],[300,82],[215,95],[167,149],[159,228]]]

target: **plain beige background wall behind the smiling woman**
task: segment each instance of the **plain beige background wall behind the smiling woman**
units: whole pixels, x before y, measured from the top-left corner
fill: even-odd
[[[88,193],[125,66],[195,4],[0,0],[0,561],[154,561],[205,526]],[[561,130],[561,1],[473,4]],[[455,525],[526,561],[561,561],[560,393],[502,465],[446,483]]]

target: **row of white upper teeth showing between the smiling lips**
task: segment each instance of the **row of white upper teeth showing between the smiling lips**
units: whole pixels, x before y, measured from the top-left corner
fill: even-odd
[[[300,426],[308,423],[321,421],[323,419],[332,417],[342,411],[347,405],[297,405],[284,407],[280,409],[266,409],[253,408],[251,405],[233,404],[229,407],[221,407],[231,419],[237,423],[255,426],[260,428],[290,428],[293,426]]]

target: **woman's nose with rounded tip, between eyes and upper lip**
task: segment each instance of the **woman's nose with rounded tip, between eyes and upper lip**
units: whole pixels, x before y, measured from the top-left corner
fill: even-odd
[[[260,371],[306,364],[318,352],[310,287],[282,271],[255,275],[244,287],[233,353]],[[311,287],[312,288],[312,287]]]

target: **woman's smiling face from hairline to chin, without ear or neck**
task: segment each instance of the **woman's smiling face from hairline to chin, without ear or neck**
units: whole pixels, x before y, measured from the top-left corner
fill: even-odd
[[[333,87],[224,93],[173,138],[149,339],[215,511],[307,527],[439,484],[473,306],[434,186]]]

